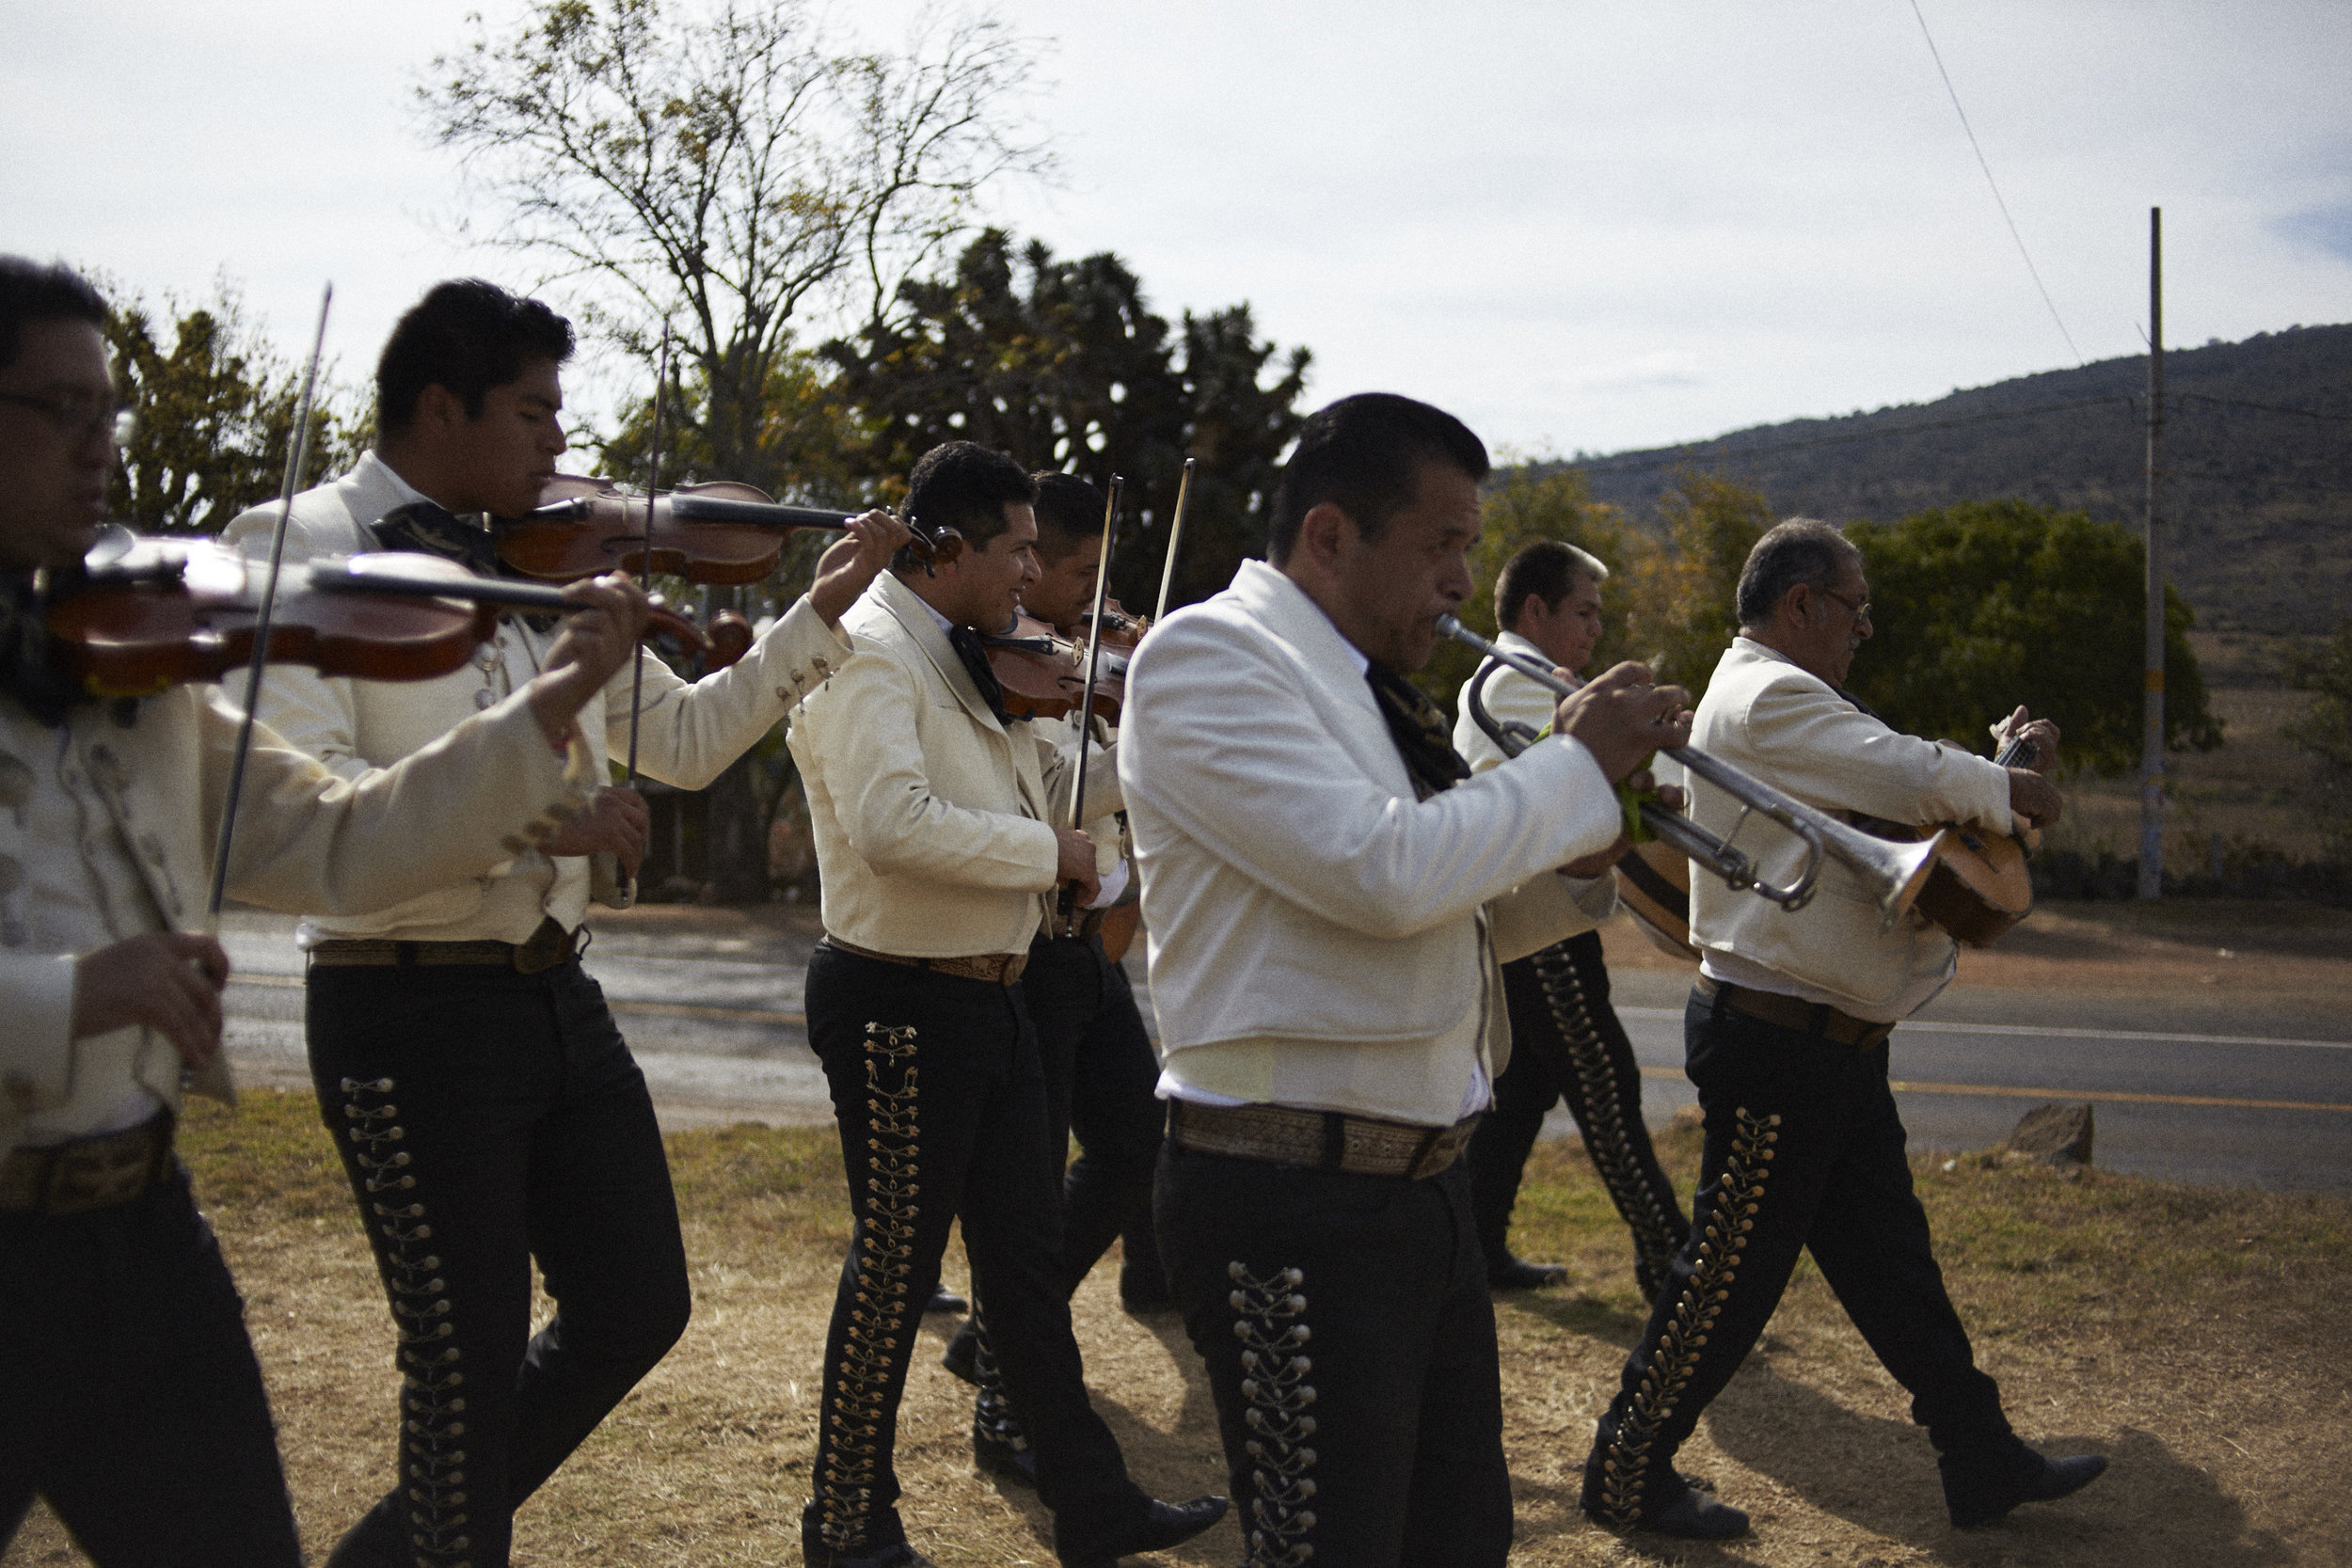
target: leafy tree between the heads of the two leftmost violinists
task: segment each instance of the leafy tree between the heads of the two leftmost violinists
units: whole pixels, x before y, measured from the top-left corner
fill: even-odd
[[[301,367],[278,357],[226,282],[202,306],[165,306],[165,317],[169,343],[136,294],[115,292],[108,306],[106,346],[134,416],[108,510],[141,534],[219,534],[285,480]],[[332,386],[313,395],[313,482],[362,447],[365,421],[336,416],[334,400]]]

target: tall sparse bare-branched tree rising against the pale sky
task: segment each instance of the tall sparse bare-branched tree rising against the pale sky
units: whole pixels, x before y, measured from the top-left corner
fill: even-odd
[[[927,12],[842,47],[807,0],[536,0],[433,63],[426,132],[494,209],[494,244],[607,287],[581,313],[649,360],[677,334],[689,449],[774,484],[764,400],[814,310],[875,320],[1002,174],[1049,153],[1014,106],[1035,47]]]

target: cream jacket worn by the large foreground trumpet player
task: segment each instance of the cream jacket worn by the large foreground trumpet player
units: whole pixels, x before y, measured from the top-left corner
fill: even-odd
[[[1566,738],[1416,802],[1359,670],[1265,562],[1143,639],[1120,773],[1152,1004],[1181,1086],[1446,1124],[1510,1056],[1496,961],[1592,929],[1552,867],[1618,804]]]

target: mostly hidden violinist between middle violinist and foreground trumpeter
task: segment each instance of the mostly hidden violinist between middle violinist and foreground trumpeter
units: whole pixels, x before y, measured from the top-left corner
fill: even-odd
[[[1094,609],[1096,569],[1103,559],[1103,491],[1077,475],[1037,473],[1037,564],[1040,576],[1021,592],[1021,609],[1044,621],[1080,651],[1087,646],[1087,616]],[[1065,719],[1030,719],[1030,726],[1056,745],[1077,745],[1077,715]],[[1094,717],[1087,733],[1110,743],[1110,724]],[[1065,933],[1047,922],[1030,938],[1021,994],[1037,1025],[1037,1053],[1047,1084],[1047,1147],[1068,1150],[1077,1133],[1077,1159],[1063,1175],[1061,1199],[1061,1276],[1063,1293],[1077,1291],[1110,1244],[1127,1237],[1129,1255],[1120,1269],[1120,1295],[1131,1305],[1160,1305],[1167,1281],[1160,1272],[1160,1244],[1152,1239],[1152,1166],[1167,1112],[1152,1095],[1160,1058],[1152,1053],[1143,1013],[1127,971],[1103,952],[1103,912],[1131,898],[1127,886],[1124,825],[1115,813],[1117,773],[1103,762],[1089,778],[1089,804],[1112,802],[1110,811],[1091,816],[1087,835],[1096,842],[1096,865],[1103,891],[1087,910],[1077,931]],[[1141,1253],[1141,1255],[1138,1255]],[[976,1312],[948,1342],[941,1359],[948,1371],[978,1385],[971,1422],[971,1448],[983,1469],[1035,1486],[1037,1462],[1028,1429],[1004,1394],[1004,1378],[985,1347],[985,1314]]]

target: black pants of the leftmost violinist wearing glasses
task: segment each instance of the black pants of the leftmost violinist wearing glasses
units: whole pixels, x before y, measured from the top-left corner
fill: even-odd
[[[0,1215],[0,1547],[33,1497],[101,1568],[301,1568],[245,1302],[188,1173]]]

